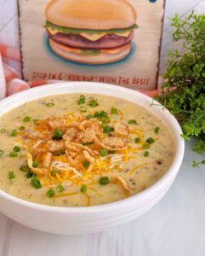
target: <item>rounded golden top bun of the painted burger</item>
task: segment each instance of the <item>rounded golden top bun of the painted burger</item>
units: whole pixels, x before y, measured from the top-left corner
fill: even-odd
[[[58,26],[95,30],[127,28],[137,18],[126,0],[51,0],[45,16]]]

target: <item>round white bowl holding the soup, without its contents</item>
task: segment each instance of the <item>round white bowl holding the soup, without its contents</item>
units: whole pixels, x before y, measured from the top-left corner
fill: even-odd
[[[21,200],[0,190],[0,211],[32,229],[56,234],[84,234],[125,224],[153,207],[170,188],[183,160],[185,143],[174,116],[162,107],[150,107],[152,99],[134,90],[99,83],[60,83],[25,90],[0,102],[0,116],[9,110],[44,96],[65,93],[95,93],[135,102],[154,113],[174,136],[174,160],[168,172],[150,188],[122,201],[95,207],[50,207]]]

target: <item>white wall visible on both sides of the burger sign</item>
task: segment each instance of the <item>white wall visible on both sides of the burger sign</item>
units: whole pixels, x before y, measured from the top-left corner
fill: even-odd
[[[196,14],[205,13],[205,0],[167,0],[162,37],[161,74],[166,68],[168,49],[176,47],[172,43],[172,28],[168,17],[173,17],[175,13],[184,17],[192,9],[195,9]],[[17,0],[0,0],[0,43],[19,45]],[[11,65],[18,67],[13,62]]]

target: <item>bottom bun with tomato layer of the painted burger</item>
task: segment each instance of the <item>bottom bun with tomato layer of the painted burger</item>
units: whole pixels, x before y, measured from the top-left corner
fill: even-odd
[[[75,52],[73,52],[71,48],[56,43],[52,39],[49,39],[49,44],[54,53],[60,55],[60,57],[65,60],[87,64],[105,64],[120,61],[124,59],[131,50],[131,44],[126,44],[120,48],[113,49],[114,53],[108,53],[106,52],[107,50],[102,49],[99,55],[88,55],[83,54],[81,49],[75,49]]]

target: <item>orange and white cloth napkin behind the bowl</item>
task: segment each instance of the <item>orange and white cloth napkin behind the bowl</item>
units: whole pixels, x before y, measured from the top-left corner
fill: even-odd
[[[2,58],[1,58],[2,55]],[[27,90],[31,87],[43,84],[54,84],[59,81],[41,80],[41,81],[24,81],[21,79],[21,73],[14,67],[9,65],[10,62],[17,62],[20,67],[20,49],[0,44],[0,99],[5,96],[13,95],[21,90]],[[159,83],[161,83],[159,78]],[[157,96],[157,90],[140,90],[148,96]]]

